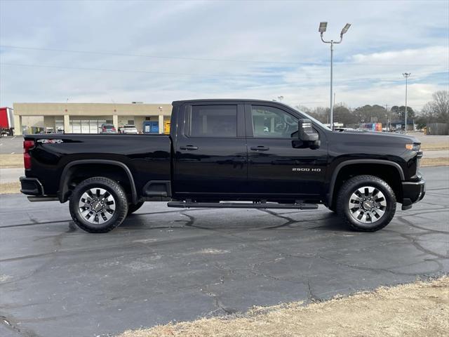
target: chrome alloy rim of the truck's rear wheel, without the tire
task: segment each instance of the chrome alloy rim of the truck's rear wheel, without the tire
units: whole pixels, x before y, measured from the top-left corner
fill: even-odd
[[[79,213],[84,220],[102,224],[112,218],[115,212],[115,199],[103,188],[91,188],[79,199]]]

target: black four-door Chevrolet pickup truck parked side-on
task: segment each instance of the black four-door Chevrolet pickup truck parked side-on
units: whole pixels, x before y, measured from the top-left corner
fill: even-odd
[[[333,132],[264,100],[173,102],[170,135],[27,135],[21,192],[69,201],[74,223],[108,232],[145,201],[169,207],[316,209],[354,230],[386,226],[424,197],[420,143]]]

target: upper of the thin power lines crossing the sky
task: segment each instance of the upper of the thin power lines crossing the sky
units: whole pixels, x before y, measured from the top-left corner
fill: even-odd
[[[243,62],[243,63],[260,63],[260,64],[279,64],[279,65],[327,65],[326,62],[288,62],[288,61],[268,61],[268,60],[233,60],[226,58],[187,58],[182,56],[166,56],[166,55],[145,55],[145,54],[133,54],[133,53],[114,53],[110,51],[74,51],[69,49],[57,49],[57,48],[37,48],[37,47],[27,47],[27,46],[7,46],[0,45],[0,48],[13,48],[13,49],[24,49],[33,51],[56,51],[60,53],[79,53],[79,54],[92,54],[92,55],[110,55],[110,56],[131,56],[138,58],[157,58],[157,59],[172,59],[172,60],[192,60],[192,61],[211,61],[211,62]],[[441,64],[431,64],[431,63],[415,63],[415,64],[377,64],[377,63],[355,63],[355,62],[335,62],[341,65],[354,65],[354,66],[381,66],[381,67],[397,67],[397,66],[441,66]]]

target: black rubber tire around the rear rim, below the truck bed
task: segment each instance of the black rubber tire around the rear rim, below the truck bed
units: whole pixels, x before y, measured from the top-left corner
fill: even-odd
[[[81,216],[79,211],[79,199],[81,199],[84,192],[95,187],[107,190],[107,192],[112,194],[116,204],[112,218],[99,225],[88,222],[83,218],[83,216]],[[76,225],[81,227],[82,230],[86,230],[87,232],[109,232],[120,225],[123,221],[123,213],[126,216],[126,213],[128,212],[128,203],[126,202],[126,196],[123,189],[121,189],[121,187],[114,182],[114,180],[107,178],[89,178],[76,186],[75,190],[72,192],[72,196],[69,201],[69,209],[74,222]]]

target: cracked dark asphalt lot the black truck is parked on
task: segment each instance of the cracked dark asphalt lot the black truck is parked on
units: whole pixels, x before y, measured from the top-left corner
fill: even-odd
[[[108,234],[67,204],[0,195],[0,336],[111,336],[252,305],[323,300],[449,271],[449,166],[380,232],[330,211],[168,209],[147,203]]]

